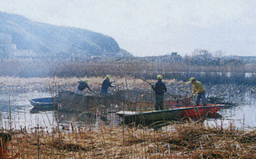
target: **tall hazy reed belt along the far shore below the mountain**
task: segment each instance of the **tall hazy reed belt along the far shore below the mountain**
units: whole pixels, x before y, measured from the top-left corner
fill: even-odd
[[[255,64],[225,64],[221,66],[196,66],[188,63],[171,61],[157,62],[134,59],[104,60],[5,60],[0,63],[0,76],[8,77],[127,77],[134,73],[147,80],[155,79],[158,74],[165,79],[186,81],[196,77],[204,83],[212,84],[255,84]],[[250,73],[248,77],[246,73]]]

